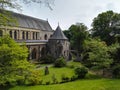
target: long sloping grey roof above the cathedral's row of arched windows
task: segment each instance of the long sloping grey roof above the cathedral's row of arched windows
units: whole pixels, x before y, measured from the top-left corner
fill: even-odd
[[[7,10],[5,10],[5,12],[7,13],[4,13],[4,10],[0,9],[0,13],[10,14],[8,17],[17,21],[17,24],[10,22],[10,26],[52,31],[52,28],[47,20],[42,20]]]

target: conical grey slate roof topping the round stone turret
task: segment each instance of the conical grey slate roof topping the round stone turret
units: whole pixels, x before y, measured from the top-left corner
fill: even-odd
[[[62,39],[62,40],[67,40],[67,37],[66,37],[66,36],[64,35],[64,33],[62,32],[60,26],[58,26],[50,39]]]

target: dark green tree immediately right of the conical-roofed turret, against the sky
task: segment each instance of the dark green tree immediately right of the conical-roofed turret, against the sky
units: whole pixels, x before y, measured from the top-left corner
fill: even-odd
[[[81,53],[83,51],[84,40],[87,39],[89,35],[87,27],[83,23],[71,25],[68,35],[70,35],[72,49]]]

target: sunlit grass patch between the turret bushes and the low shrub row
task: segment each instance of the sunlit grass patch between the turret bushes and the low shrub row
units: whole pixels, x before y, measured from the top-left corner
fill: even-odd
[[[50,67],[49,68],[49,75],[44,75],[44,69],[40,70],[41,73],[41,79],[43,81],[43,84],[46,82],[52,83],[52,77],[53,75],[56,77],[57,81],[61,81],[62,75],[65,75],[66,77],[72,77],[74,75],[74,69],[68,68],[68,67],[63,67],[63,68],[54,68]]]

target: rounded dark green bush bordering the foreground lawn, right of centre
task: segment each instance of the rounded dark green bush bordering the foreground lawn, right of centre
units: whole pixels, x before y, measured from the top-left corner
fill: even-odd
[[[88,70],[85,67],[77,67],[75,69],[75,74],[80,79],[85,78],[85,76],[86,76],[87,73],[88,73]]]

